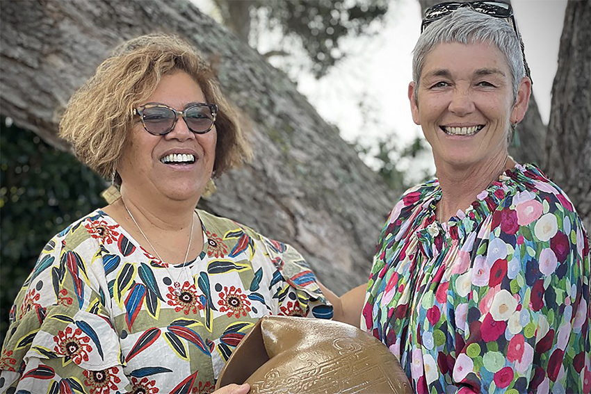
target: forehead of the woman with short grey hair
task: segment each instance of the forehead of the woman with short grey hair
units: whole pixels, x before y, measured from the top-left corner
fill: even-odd
[[[510,67],[505,55],[495,44],[488,42],[443,42],[425,56],[421,78],[446,70],[455,76],[473,75],[481,70],[498,71],[510,78]]]

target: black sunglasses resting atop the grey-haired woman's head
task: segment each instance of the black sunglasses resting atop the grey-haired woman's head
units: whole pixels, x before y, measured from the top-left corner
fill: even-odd
[[[421,33],[423,33],[425,28],[431,22],[435,22],[437,19],[441,19],[442,17],[449,15],[453,13],[453,11],[462,7],[472,8],[478,13],[486,14],[491,17],[511,19],[513,30],[515,31],[517,40],[519,40],[519,44],[521,46],[521,55],[524,57],[524,68],[526,70],[526,75],[531,81],[531,74],[528,63],[526,62],[524,42],[521,40],[519,31],[517,31],[517,23],[515,22],[515,17],[513,17],[513,8],[509,3],[505,3],[503,1],[448,1],[446,3],[435,4],[435,6],[429,7],[425,11],[425,17],[423,17],[423,22],[421,23]],[[533,85],[533,81],[531,83]]]

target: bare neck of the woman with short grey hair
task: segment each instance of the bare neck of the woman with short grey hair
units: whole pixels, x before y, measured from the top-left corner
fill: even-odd
[[[487,160],[484,165],[460,167],[437,163],[437,178],[442,188],[442,199],[437,204],[437,218],[447,221],[459,210],[465,210],[476,200],[476,196],[508,168],[515,165],[506,151]]]

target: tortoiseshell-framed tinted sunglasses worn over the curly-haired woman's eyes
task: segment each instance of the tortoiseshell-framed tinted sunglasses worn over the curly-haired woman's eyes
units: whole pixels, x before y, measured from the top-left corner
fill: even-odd
[[[204,134],[211,130],[216,122],[218,106],[216,104],[191,104],[184,110],[175,110],[164,104],[145,104],[133,109],[133,115],[142,119],[144,129],[155,136],[163,136],[175,129],[179,116],[193,133]]]

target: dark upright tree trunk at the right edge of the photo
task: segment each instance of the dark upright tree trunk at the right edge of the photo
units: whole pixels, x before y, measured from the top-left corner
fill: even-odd
[[[552,85],[547,174],[591,231],[591,2],[569,1]]]

